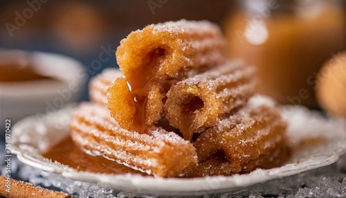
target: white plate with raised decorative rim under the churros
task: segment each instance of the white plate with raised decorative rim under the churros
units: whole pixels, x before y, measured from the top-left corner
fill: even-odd
[[[307,137],[324,137],[327,141],[302,152],[280,168],[255,170],[250,174],[232,177],[205,177],[195,179],[162,179],[139,175],[107,175],[77,172],[59,163],[44,159],[40,153],[69,135],[68,123],[71,107],[51,114],[51,119],[39,123],[35,116],[21,120],[12,129],[12,152],[18,159],[34,168],[62,174],[78,181],[98,183],[115,190],[153,195],[207,195],[233,192],[270,179],[282,178],[334,163],[346,152],[345,122],[323,118],[303,107],[284,107],[284,116],[289,121],[291,145],[297,145]]]

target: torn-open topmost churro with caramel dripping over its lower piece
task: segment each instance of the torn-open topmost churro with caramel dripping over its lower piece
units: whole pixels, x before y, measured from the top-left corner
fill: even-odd
[[[109,87],[108,107],[119,125],[146,132],[161,117],[170,84],[224,62],[225,40],[207,21],[170,21],[137,30],[120,42],[125,77]]]

